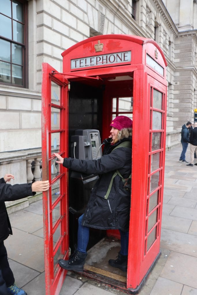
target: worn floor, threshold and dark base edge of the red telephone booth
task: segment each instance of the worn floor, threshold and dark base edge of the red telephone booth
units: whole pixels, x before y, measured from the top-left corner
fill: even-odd
[[[161,251],[155,258],[139,286],[137,286],[135,289],[127,289],[126,272],[123,272],[118,268],[112,268],[108,265],[108,260],[111,258],[114,259],[119,251],[120,241],[116,238],[105,237],[88,251],[87,260],[84,265],[84,271],[72,272],[80,274],[80,276],[99,281],[102,284],[105,284],[115,290],[120,290],[126,294],[138,294],[149,277],[150,272],[157,263],[157,260],[161,255]]]

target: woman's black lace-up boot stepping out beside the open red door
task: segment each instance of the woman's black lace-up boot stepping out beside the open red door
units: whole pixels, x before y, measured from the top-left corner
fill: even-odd
[[[87,253],[82,253],[77,250],[69,257],[69,260],[59,259],[58,263],[61,267],[67,270],[82,271]]]

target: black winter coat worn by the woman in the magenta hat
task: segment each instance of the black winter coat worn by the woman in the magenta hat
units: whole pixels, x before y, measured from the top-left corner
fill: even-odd
[[[123,178],[128,178],[131,174],[131,148],[120,147],[113,151],[124,141],[131,141],[131,137],[124,138],[115,145],[106,144],[103,156],[98,160],[64,159],[63,166],[67,168],[100,175],[84,212],[84,226],[128,231],[131,191],[123,188],[123,181],[119,175],[113,179],[110,194],[108,199],[105,199],[111,178],[117,169]]]

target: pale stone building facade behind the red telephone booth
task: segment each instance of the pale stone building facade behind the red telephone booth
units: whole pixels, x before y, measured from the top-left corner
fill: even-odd
[[[196,0],[5,0],[4,4],[0,8],[1,175],[11,172],[18,183],[40,178],[42,62],[62,71],[61,53],[95,35],[156,40],[168,63],[166,147],[179,144],[181,126],[193,121],[197,108]]]

